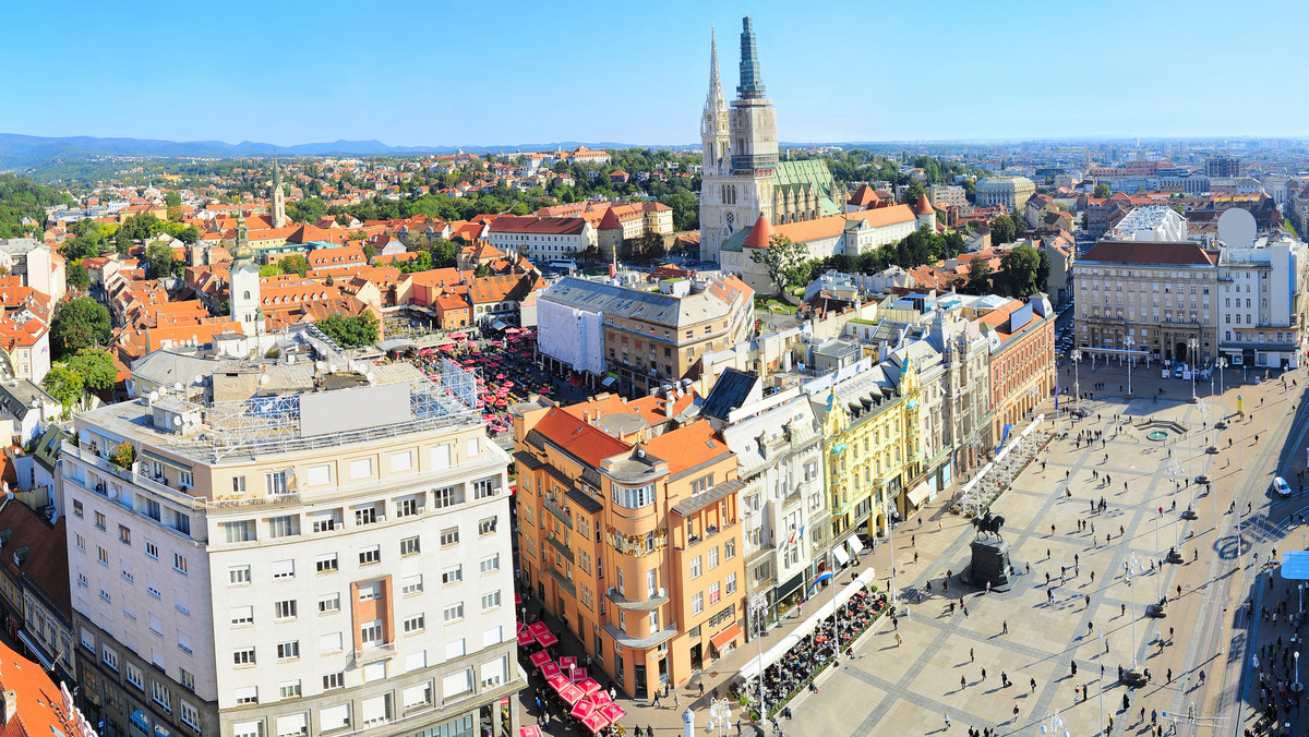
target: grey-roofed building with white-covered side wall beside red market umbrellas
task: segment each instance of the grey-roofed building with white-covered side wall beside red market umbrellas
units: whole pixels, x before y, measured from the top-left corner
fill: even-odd
[[[541,293],[537,347],[556,369],[644,394],[754,333],[754,291],[733,276],[669,279],[657,291],[568,276]]]

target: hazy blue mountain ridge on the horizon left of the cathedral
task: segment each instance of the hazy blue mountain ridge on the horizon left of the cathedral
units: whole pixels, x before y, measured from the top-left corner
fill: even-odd
[[[270,143],[241,141],[230,144],[224,141],[165,141],[153,139],[101,139],[94,136],[65,136],[45,137],[25,136],[21,134],[0,134],[0,165],[17,166],[30,165],[54,158],[69,158],[77,156],[166,156],[186,157],[196,156],[206,158],[236,158],[243,156],[412,156],[420,153],[454,153],[465,151],[467,153],[486,152],[512,152],[512,151],[550,151],[555,148],[631,148],[632,144],[620,143],[579,143],[558,141],[545,144],[518,144],[518,145],[433,145],[433,147],[398,147],[386,145],[377,140],[331,143],[305,143],[296,145],[275,145]],[[666,147],[652,147],[666,148]]]

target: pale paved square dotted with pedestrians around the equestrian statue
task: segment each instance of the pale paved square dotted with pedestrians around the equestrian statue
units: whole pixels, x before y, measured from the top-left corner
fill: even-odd
[[[1126,387],[1119,389],[1126,384],[1122,369],[1090,370],[1084,363],[1079,373],[1081,390],[1094,394],[1083,402],[1089,416],[1051,422],[1052,399],[1038,408],[1047,418],[1043,429],[1067,431],[1068,439],[1052,440],[992,507],[1005,517],[1001,534],[1020,572],[1012,590],[987,593],[961,581],[974,530],[967,518],[948,512],[952,496],[942,492],[895,533],[895,577],[907,615],[894,631],[884,620],[856,645],[853,661],[843,658],[819,677],[819,692],[792,702],[793,719],[780,720],[787,734],[861,736],[877,729],[962,736],[969,728],[1009,734],[1038,733],[1031,730],[1058,723],[1060,732],[1093,736],[1110,730],[1110,720],[1111,734],[1144,734],[1152,712],[1166,729],[1165,712],[1189,711],[1195,728],[1213,733],[1240,734],[1254,724],[1259,686],[1255,679],[1251,690],[1250,670],[1238,664],[1250,665],[1249,656],[1278,636],[1289,643],[1292,632],[1284,617],[1278,624],[1259,617],[1251,622],[1244,603],[1253,598],[1259,613],[1287,596],[1287,583],[1276,575],[1275,588],[1267,589],[1266,564],[1280,541],[1300,533],[1293,539],[1300,543],[1306,530],[1288,521],[1292,513],[1309,516],[1299,494],[1289,500],[1268,494],[1274,473],[1300,487],[1309,423],[1299,418],[1304,387],[1292,389],[1289,381],[1305,372],[1291,372],[1284,391],[1279,377],[1254,385],[1253,373],[1247,384],[1233,386],[1241,376],[1229,370],[1227,391],[1212,399],[1206,398],[1207,382],[1198,385],[1198,403],[1189,402],[1190,382],[1162,380],[1157,369],[1153,377],[1140,369],[1134,374],[1131,399]],[[1072,382],[1072,373],[1062,370],[1060,384]],[[1245,420],[1236,415],[1237,395]],[[1128,416],[1158,423],[1166,437],[1149,440],[1155,428],[1139,429]],[[1217,419],[1228,423],[1221,432],[1213,429]],[[1080,433],[1101,437],[1079,444]],[[1217,453],[1208,453],[1215,444]],[[1212,492],[1187,484],[1198,476],[1212,480]],[[1101,500],[1103,511],[1093,511]],[[1191,505],[1195,521],[1183,518]],[[1162,563],[1174,547],[1182,563]],[[882,542],[863,559],[864,568],[877,569],[884,590],[890,548]],[[1132,560],[1136,569],[1128,585],[1124,567]],[[948,571],[954,577],[945,589]],[[839,579],[844,584],[850,577],[847,569]],[[1289,592],[1295,611],[1299,592]],[[1147,618],[1145,606],[1164,596],[1166,617]],[[961,603],[967,605],[966,614]],[[763,649],[785,630],[768,632]],[[572,644],[571,636],[564,640]],[[660,707],[620,699],[630,712],[624,724],[681,733],[681,715],[690,707],[703,729],[708,698],[715,689],[725,694],[734,672],[755,652],[751,641],[709,666],[678,690],[675,708],[673,698]],[[1127,689],[1118,678],[1118,669],[1132,669],[1134,662],[1149,670],[1151,681],[1141,689]],[[533,716],[529,710],[525,723]],[[747,724],[744,728],[751,733]],[[558,725],[550,730],[563,733]]]

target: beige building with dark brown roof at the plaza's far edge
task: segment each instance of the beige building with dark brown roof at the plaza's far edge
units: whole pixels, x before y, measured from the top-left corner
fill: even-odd
[[[1132,351],[1185,361],[1198,340],[1198,361],[1217,357],[1217,261],[1194,242],[1096,243],[1072,267],[1077,346],[1109,357],[1131,338]]]

